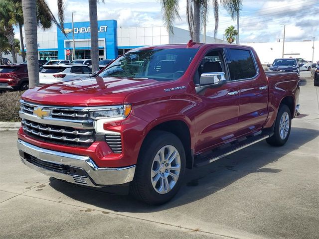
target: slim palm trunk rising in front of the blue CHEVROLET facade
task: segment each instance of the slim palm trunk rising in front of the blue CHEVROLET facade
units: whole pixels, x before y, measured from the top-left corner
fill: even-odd
[[[98,13],[96,0],[89,0],[92,72],[99,70]]]

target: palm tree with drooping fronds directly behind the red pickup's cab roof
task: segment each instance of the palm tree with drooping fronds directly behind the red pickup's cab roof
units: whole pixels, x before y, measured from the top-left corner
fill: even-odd
[[[163,21],[168,31],[172,31],[175,18],[179,18],[178,0],[160,0]],[[186,15],[190,36],[195,42],[199,42],[200,28],[206,24],[209,0],[186,0]],[[214,37],[216,38],[219,22],[219,5],[222,5],[232,19],[239,15],[242,0],[212,0],[212,8],[215,16]]]

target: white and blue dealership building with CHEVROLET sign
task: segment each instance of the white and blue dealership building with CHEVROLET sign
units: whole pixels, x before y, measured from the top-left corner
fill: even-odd
[[[73,59],[72,23],[64,24],[65,32],[57,28],[54,32],[38,32],[39,59]],[[187,43],[189,31],[173,27],[173,33],[164,26],[121,27],[116,20],[98,21],[99,58],[114,59],[130,49],[160,44]],[[75,59],[90,59],[90,22],[74,22]],[[203,36],[201,36],[202,38]],[[225,42],[206,36],[207,43]],[[66,55],[66,50],[71,55]]]

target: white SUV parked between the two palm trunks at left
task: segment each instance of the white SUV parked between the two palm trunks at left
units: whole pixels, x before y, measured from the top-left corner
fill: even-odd
[[[40,84],[51,84],[88,77],[92,69],[82,64],[44,65],[40,72]]]

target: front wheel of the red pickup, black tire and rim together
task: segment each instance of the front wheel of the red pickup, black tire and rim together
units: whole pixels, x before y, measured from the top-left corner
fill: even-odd
[[[150,205],[168,202],[181,186],[185,163],[185,150],[176,135],[150,132],[141,148],[130,193]]]

